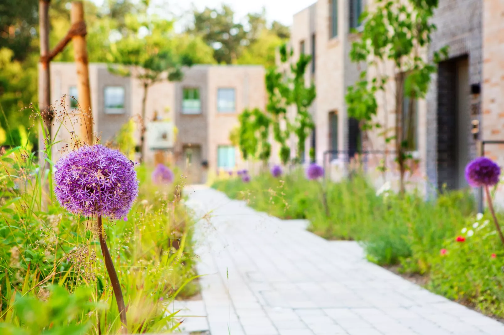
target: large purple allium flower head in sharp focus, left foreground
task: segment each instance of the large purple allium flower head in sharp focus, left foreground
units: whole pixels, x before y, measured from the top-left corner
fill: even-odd
[[[54,193],[71,213],[120,218],[138,195],[134,165],[118,150],[82,146],[54,164]]]

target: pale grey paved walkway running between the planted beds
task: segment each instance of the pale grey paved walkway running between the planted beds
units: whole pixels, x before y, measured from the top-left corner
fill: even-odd
[[[198,272],[208,275],[193,315],[211,335],[504,334],[503,324],[365,261],[355,242],[327,241],[302,220],[212,189],[186,192],[198,217],[210,214],[197,227]]]

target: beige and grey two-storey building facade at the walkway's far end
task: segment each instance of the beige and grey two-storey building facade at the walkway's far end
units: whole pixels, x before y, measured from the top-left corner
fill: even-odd
[[[238,125],[237,116],[243,109],[264,109],[264,75],[262,66],[195,65],[184,69],[181,81],[161,81],[149,88],[146,124],[164,121],[175,126],[174,145],[164,151],[191,182],[204,182],[207,172],[244,166],[229,134]],[[143,86],[138,79],[113,74],[106,64],[98,63],[89,64],[89,76],[94,132],[102,143],[113,139],[129,120],[140,124]],[[54,108],[59,112],[77,108],[75,64],[51,63],[51,78]],[[71,122],[62,128],[55,155],[71,142]],[[139,139],[136,128],[135,137]],[[147,131],[145,160],[152,163],[163,152],[150,147],[149,136],[152,134]]]

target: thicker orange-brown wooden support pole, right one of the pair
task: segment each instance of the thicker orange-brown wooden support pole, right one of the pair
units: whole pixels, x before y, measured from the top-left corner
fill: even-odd
[[[82,1],[72,2],[70,11],[70,22],[72,26],[84,27],[84,6]],[[91,94],[89,92],[89,68],[88,50],[86,46],[86,35],[75,34],[72,36],[74,45],[74,58],[77,69],[77,92],[79,93],[79,106],[82,110],[80,120],[80,135],[87,144],[93,144],[93,115],[91,113]]]

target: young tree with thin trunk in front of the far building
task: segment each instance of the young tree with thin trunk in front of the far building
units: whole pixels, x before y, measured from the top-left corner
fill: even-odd
[[[191,65],[191,54],[176,50],[172,22],[157,17],[131,15],[128,30],[111,45],[109,70],[123,76],[137,78],[143,87],[140,150],[145,158],[146,103],[149,88],[163,80],[180,80],[181,67]]]

